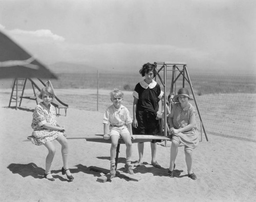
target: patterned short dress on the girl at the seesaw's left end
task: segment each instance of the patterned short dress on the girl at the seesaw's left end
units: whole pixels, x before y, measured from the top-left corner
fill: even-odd
[[[46,123],[53,126],[57,125],[55,107],[50,104],[50,108],[47,109],[46,106],[40,102],[35,107],[31,124],[31,127],[34,129],[31,138],[33,144],[42,145],[49,141],[55,140],[61,134],[63,134],[63,132],[59,130],[50,130],[44,128],[42,125]]]

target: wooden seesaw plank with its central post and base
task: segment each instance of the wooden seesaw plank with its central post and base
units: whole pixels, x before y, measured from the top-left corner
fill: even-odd
[[[161,140],[161,141],[170,140],[170,138],[167,138],[165,136],[152,136],[152,135],[139,135],[139,134],[134,134],[133,136],[135,139],[132,140],[132,143],[151,142],[152,140]],[[69,140],[84,139],[87,142],[111,143],[110,139],[109,140],[103,139],[103,134],[94,134],[91,136],[74,136],[74,137],[66,137],[66,138]],[[30,139],[31,139],[31,136],[28,137],[28,140],[30,140]],[[116,158],[115,158],[116,175],[110,175],[109,170],[107,170],[107,169],[103,169],[103,168],[99,168],[99,167],[95,167],[95,166],[90,167],[90,170],[92,170],[92,171],[102,172],[105,174],[105,175],[97,178],[98,182],[105,183],[106,181],[112,179],[115,176],[125,177],[132,181],[140,181],[141,177],[136,174],[131,175],[129,173],[125,173],[123,171],[117,170],[120,144],[125,144],[123,139],[121,139],[121,138],[119,138],[118,145],[116,148]]]

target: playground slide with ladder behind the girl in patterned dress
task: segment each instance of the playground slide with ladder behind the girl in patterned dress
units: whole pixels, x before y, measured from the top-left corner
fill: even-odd
[[[25,87],[26,87],[28,80],[32,84],[34,96],[24,96],[24,91],[25,91]],[[45,86],[51,86],[54,91],[54,88],[53,88],[50,80],[48,80],[46,83],[44,83],[39,78],[15,78],[15,79],[13,79],[12,93],[11,93],[8,107],[11,107],[11,104],[13,102],[15,102],[15,108],[17,109],[17,107],[18,106],[20,107],[20,105],[22,104],[23,99],[35,100],[36,104],[38,104],[36,90],[38,92],[40,92],[41,89]],[[54,95],[55,95],[55,99],[52,101],[52,105],[56,109],[56,114],[60,115],[60,109],[63,108],[65,110],[65,116],[67,116],[67,109],[69,108],[69,105],[65,104],[61,100],[59,100],[57,98],[55,92],[54,92]]]

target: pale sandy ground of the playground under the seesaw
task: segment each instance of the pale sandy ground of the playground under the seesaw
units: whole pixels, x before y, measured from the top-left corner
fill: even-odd
[[[9,96],[5,91],[0,92],[0,201],[254,201],[256,198],[256,143],[212,134],[208,134],[208,142],[203,138],[194,151],[196,181],[187,177],[183,147],[179,148],[175,177],[169,178],[170,147],[158,145],[157,161],[162,168],[157,169],[150,164],[150,143],[145,143],[144,164],[134,169],[140,181],[115,177],[99,183],[97,177],[103,173],[91,171],[90,167],[109,169],[110,144],[69,140],[69,162],[75,179],[68,181],[61,174],[60,145],[56,142],[52,164],[55,181],[50,182],[43,176],[47,149],[27,141],[32,133],[35,103],[18,110],[7,108]],[[69,108],[67,116],[60,116],[57,121],[65,125],[68,137],[75,137],[102,134],[102,116],[99,111]],[[134,144],[132,163],[137,159],[137,144]],[[118,169],[124,163],[125,145],[121,145]]]

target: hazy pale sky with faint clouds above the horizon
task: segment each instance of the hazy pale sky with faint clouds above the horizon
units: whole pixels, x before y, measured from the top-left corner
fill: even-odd
[[[44,64],[146,62],[256,74],[254,0],[0,0],[0,31]]]

